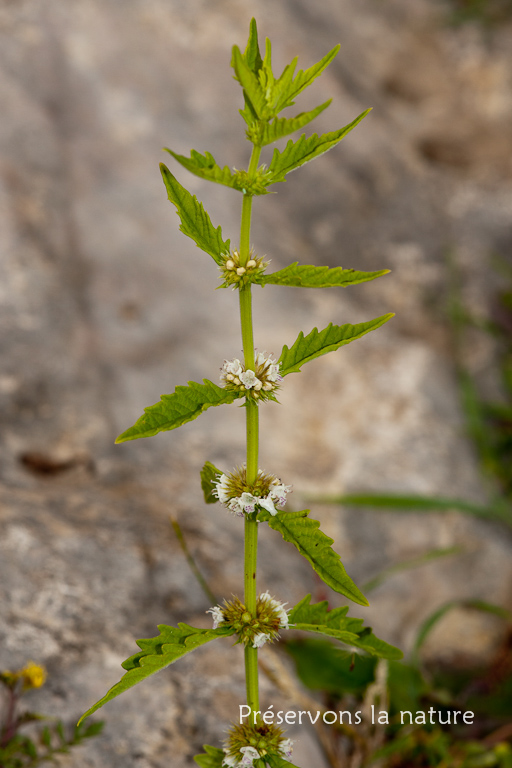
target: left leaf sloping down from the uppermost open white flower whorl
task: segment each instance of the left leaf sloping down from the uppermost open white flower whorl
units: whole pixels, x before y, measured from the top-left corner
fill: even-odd
[[[208,379],[203,379],[202,384],[189,381],[187,386],[176,387],[172,395],[162,395],[160,402],[144,408],[144,415],[119,435],[116,443],[177,429],[197,419],[207,408],[232,403],[239,396],[238,392],[222,389]]]

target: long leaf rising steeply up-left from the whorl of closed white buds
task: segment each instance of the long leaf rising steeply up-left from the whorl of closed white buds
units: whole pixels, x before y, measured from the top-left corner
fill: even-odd
[[[220,226],[217,228],[213,226],[203,204],[195,195],[191,195],[185,187],[181,186],[163,163],[160,163],[160,171],[167,189],[167,196],[176,206],[181,219],[181,231],[192,238],[198,248],[210,254],[220,266],[223,264],[222,255],[229,253],[230,241],[222,239],[222,229]]]

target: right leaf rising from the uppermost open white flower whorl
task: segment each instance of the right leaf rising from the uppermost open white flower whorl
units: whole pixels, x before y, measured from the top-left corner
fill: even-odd
[[[350,344],[351,341],[360,339],[361,336],[379,328],[392,317],[394,317],[394,314],[390,313],[377,317],[375,320],[368,320],[366,323],[357,323],[356,325],[350,325],[350,323],[346,325],[333,325],[329,323],[323,331],[313,328],[307,336],[304,336],[301,331],[290,349],[288,349],[286,344],[283,347],[278,361],[281,364],[281,375],[287,376],[289,373],[297,373],[304,363],[325,355],[327,352],[333,352],[345,344]]]

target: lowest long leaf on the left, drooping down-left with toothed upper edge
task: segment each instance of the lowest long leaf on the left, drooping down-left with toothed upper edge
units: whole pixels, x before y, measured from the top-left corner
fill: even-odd
[[[190,627],[188,624],[178,624],[178,627],[169,627],[166,624],[159,624],[160,634],[158,637],[152,637],[147,640],[137,640],[137,645],[141,649],[130,658],[123,661],[122,667],[126,669],[126,674],[121,680],[107,691],[105,696],[96,702],[90,709],[82,715],[78,724],[93,712],[100,709],[104,704],[115,699],[119,694],[124,693],[137,683],[145,680],[155,672],[165,669],[170,664],[185,656],[190,651],[194,651],[205,643],[215,640],[218,637],[228,637],[233,634],[230,627],[217,627],[217,629],[198,629]]]

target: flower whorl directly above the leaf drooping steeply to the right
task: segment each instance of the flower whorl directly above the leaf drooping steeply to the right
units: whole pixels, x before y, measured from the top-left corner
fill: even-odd
[[[249,485],[246,467],[220,475],[213,486],[213,495],[238,517],[243,517],[244,513],[251,514],[257,507],[277,515],[292,489],[291,485],[284,485],[278,477],[262,469],[258,470],[255,482]]]

